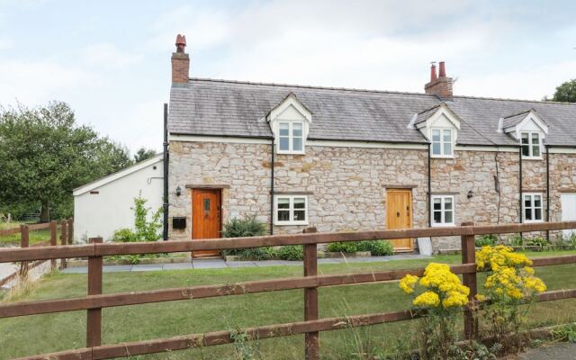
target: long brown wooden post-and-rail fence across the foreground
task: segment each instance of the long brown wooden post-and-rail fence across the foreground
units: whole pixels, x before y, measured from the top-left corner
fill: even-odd
[[[302,234],[272,235],[254,238],[215,238],[199,240],[159,241],[142,243],[103,243],[101,238],[91,238],[90,243],[76,246],[23,247],[0,250],[0,263],[51,260],[58,258],[87,257],[88,282],[85,297],[46,300],[40,302],[14,302],[0,304],[0,319],[48,314],[63,311],[86,311],[86,345],[83,348],[60,351],[58,353],[27,356],[23,359],[111,359],[130,357],[193,347],[211,347],[229,344],[237,337],[230,331],[214,331],[202,334],[188,334],[173,338],[157,338],[102,345],[102,309],[155,302],[191,301],[195,299],[233,296],[247,293],[278,292],[294,289],[304,291],[304,320],[283,324],[266,325],[239,330],[243,339],[265,339],[293,335],[304,335],[304,351],[307,359],[320,358],[320,332],[364,327],[394,321],[412,320],[426,315],[426,311],[406,309],[403,311],[380,312],[363,315],[347,315],[320,319],[318,289],[325,286],[370,284],[399,280],[405,275],[424,274],[424,268],[388,270],[370,273],[318,275],[316,247],[318,244],[394,238],[422,238],[459,236],[462,242],[462,264],[450,266],[457,275],[463,275],[464,284],[471,289],[470,300],[475,302],[477,293],[474,237],[476,235],[505,234],[531,231],[576,229],[576,221],[544,222],[524,224],[504,224],[476,226],[464,223],[462,226],[423,229],[391,229],[374,231],[349,231],[319,233],[308,229]],[[197,285],[181,288],[159,289],[130,293],[103,293],[103,257],[115,255],[157,254],[188,252],[196,250],[222,250],[241,247],[271,247],[302,245],[304,251],[301,277],[249,281],[225,285]],[[556,266],[576,264],[576,255],[559,257],[539,257],[533,266]],[[550,302],[576,298],[576,289],[563,289],[541,293],[537,302]],[[464,334],[472,338],[477,324],[474,323],[469,307],[464,308]]]

